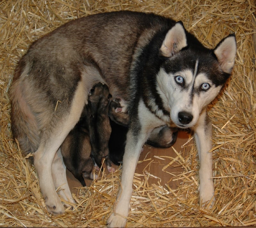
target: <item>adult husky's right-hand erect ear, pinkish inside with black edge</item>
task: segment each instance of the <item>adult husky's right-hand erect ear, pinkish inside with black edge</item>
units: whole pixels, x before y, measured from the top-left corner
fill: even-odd
[[[220,63],[221,69],[225,73],[230,74],[234,67],[236,57],[235,34],[231,34],[220,41],[213,52]]]

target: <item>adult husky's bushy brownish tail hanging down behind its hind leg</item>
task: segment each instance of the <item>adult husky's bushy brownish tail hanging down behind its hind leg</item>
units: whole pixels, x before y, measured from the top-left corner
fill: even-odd
[[[39,145],[39,130],[36,117],[23,94],[25,87],[23,80],[24,77],[28,76],[29,70],[29,64],[26,64],[25,60],[21,59],[15,69],[10,88],[12,134],[13,138],[18,140],[20,148],[25,154],[35,152]]]

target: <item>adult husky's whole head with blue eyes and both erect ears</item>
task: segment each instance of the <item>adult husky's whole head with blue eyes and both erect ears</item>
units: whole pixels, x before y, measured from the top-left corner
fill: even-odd
[[[163,107],[175,125],[193,127],[231,74],[236,56],[235,35],[210,50],[177,22],[166,34],[160,55],[166,58],[157,75]]]

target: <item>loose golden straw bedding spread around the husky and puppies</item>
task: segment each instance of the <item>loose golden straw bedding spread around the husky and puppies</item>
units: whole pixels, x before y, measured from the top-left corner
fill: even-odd
[[[0,1],[0,225],[105,226],[121,170],[103,173],[74,195],[74,209],[55,217],[46,212],[33,166],[22,157],[10,132],[8,90],[13,70],[31,42],[61,24],[116,10],[155,12],[182,20],[207,47],[236,33],[237,56],[225,91],[210,107],[213,120],[215,206],[198,205],[198,157],[193,140],[184,157],[169,158],[184,168],[177,189],[148,185],[135,174],[128,227],[256,225],[256,6],[253,0],[9,0]],[[181,149],[182,150],[182,149]],[[157,158],[156,158],[157,159]]]

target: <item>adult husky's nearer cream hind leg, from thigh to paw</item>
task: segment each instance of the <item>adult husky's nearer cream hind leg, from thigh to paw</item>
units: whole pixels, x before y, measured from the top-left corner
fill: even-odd
[[[54,183],[52,178],[52,164],[55,153],[69,131],[78,122],[86,98],[87,92],[84,83],[80,81],[77,85],[69,113],[60,120],[50,135],[43,135],[37,151],[33,154],[41,192],[45,199],[47,210],[53,215],[64,213],[64,207],[55,191],[55,184],[57,183]]]

